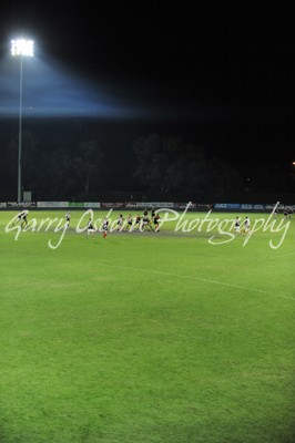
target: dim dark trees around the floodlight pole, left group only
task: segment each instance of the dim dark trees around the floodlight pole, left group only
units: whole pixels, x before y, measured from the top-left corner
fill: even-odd
[[[18,137],[2,146],[0,184],[3,194],[16,187],[18,176]],[[42,150],[32,133],[22,135],[22,188],[48,199],[88,195],[102,181],[103,153],[96,141],[78,143],[71,150]]]

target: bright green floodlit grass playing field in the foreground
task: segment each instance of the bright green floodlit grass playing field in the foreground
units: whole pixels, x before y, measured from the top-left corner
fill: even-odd
[[[16,214],[0,213],[1,443],[294,442],[295,218],[273,249],[282,231],[245,244],[175,222],[87,239],[75,212],[52,249],[53,228],[6,233]]]

